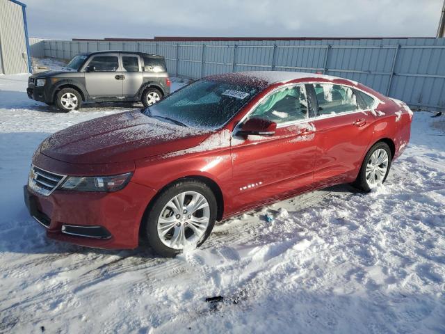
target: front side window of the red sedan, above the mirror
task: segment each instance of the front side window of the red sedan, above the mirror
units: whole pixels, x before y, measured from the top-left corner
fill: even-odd
[[[249,118],[263,118],[277,124],[305,120],[308,106],[304,85],[291,86],[269,95],[250,114]]]

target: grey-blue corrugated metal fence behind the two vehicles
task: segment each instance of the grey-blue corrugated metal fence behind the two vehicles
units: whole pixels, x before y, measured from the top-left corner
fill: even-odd
[[[44,56],[63,59],[99,50],[161,54],[171,75],[191,79],[246,70],[322,72],[359,81],[410,106],[445,109],[445,38],[43,43]]]

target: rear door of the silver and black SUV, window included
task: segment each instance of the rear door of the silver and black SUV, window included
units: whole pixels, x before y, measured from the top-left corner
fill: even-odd
[[[124,97],[135,96],[140,86],[142,86],[143,77],[140,67],[140,59],[136,54],[120,54],[122,58],[122,75],[124,79],[123,94]]]

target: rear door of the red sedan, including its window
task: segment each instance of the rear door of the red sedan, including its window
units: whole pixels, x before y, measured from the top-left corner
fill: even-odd
[[[308,89],[316,101],[314,186],[351,182],[371,141],[374,117],[359,108],[348,86],[314,84]]]

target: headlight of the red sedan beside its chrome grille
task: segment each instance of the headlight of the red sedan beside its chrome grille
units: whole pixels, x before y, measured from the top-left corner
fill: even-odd
[[[96,177],[69,176],[67,180],[63,182],[62,186],[60,186],[60,189],[71,191],[118,191],[124,189],[124,186],[126,186],[131,179],[131,175],[133,175],[133,173]]]

